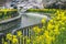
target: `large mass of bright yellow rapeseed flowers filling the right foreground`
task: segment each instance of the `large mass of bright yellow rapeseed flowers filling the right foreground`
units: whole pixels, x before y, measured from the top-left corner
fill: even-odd
[[[48,9],[45,9],[45,11],[47,10]],[[51,15],[51,20],[48,20],[47,22],[46,19],[41,20],[41,23],[43,24],[42,28],[38,28],[38,25],[36,25],[31,29],[32,30],[31,38],[22,35],[21,31],[18,31],[16,35],[12,35],[10,33],[7,34],[7,38],[12,41],[12,44],[19,44],[19,38],[21,41],[26,42],[26,44],[66,44],[66,40],[62,37],[62,36],[66,36],[65,35],[66,11],[57,10],[57,9],[56,10],[53,9],[53,10],[56,12],[53,15]],[[62,43],[61,40],[64,40],[64,42]],[[24,42],[23,44],[25,44]]]

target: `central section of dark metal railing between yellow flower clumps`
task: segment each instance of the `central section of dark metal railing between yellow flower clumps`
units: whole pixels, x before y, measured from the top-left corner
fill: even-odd
[[[19,44],[28,44],[26,43],[26,40],[28,38],[31,40],[31,35],[34,33],[32,29],[34,26],[40,26],[41,28],[42,26],[42,23],[30,25],[30,26],[26,26],[26,28],[21,28],[20,30],[16,30],[14,33],[12,33],[13,35],[16,35],[16,32],[18,31],[21,31],[22,32],[22,41],[20,41],[19,37],[18,37]],[[31,41],[30,44],[33,44],[32,41]]]

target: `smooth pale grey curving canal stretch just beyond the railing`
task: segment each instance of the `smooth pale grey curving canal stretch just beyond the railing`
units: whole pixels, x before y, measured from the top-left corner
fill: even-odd
[[[34,25],[41,23],[41,20],[43,18],[47,18],[46,15],[43,15],[41,13],[25,13],[22,15],[22,28]]]

